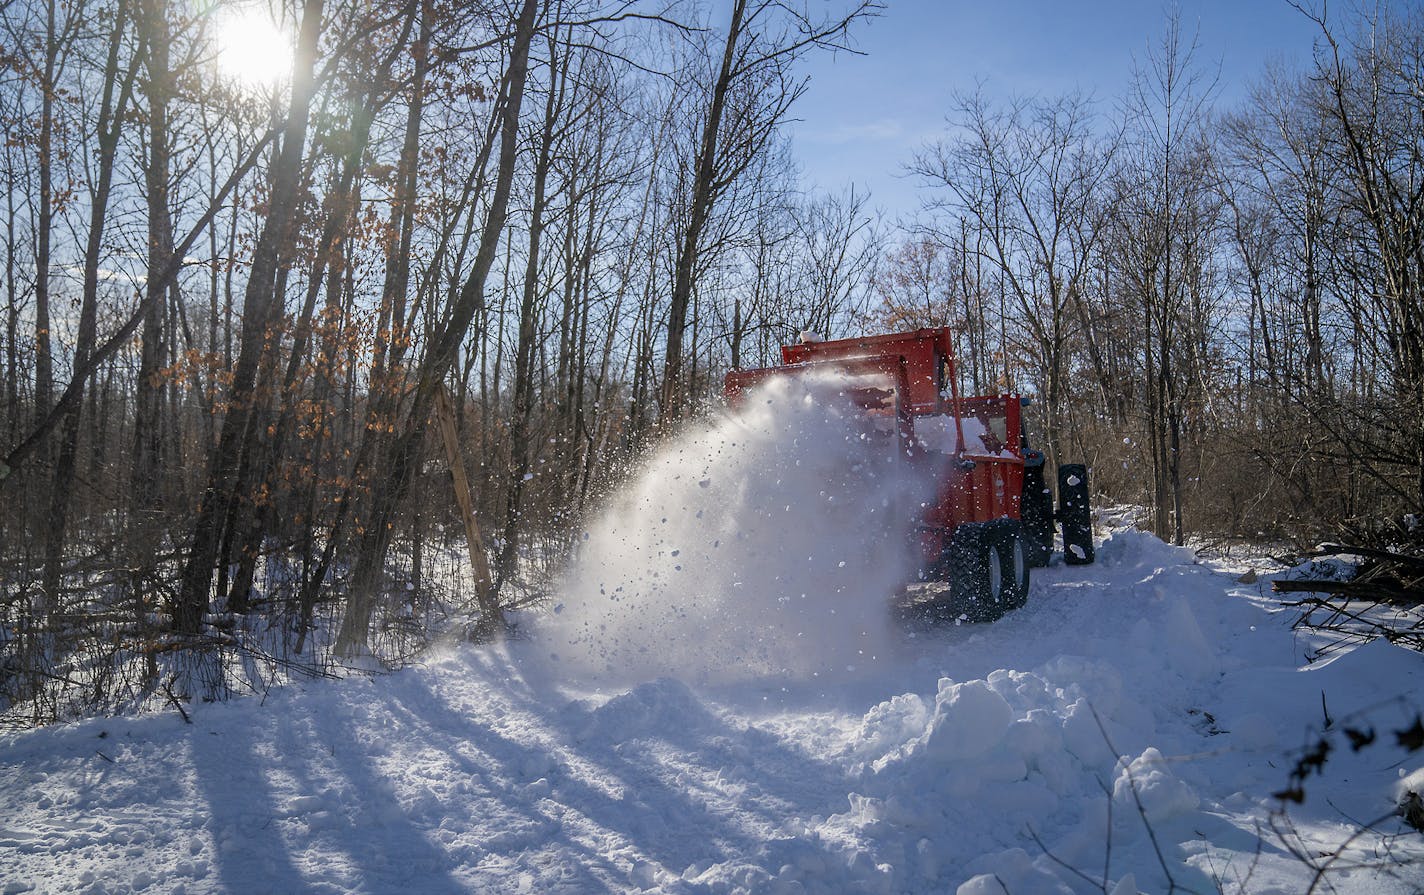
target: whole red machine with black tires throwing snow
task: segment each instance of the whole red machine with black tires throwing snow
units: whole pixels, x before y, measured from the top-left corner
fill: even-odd
[[[1064,561],[1092,562],[1088,470],[1058,468],[1058,511],[1044,454],[1028,445],[1017,394],[963,397],[948,327],[782,346],[782,366],[733,370],[725,394],[736,406],[759,383],[813,371],[846,377],[847,400],[897,441],[896,454],[924,485],[911,549],[918,578],[950,583],[950,600],[970,620],[1022,606],[1030,568],[1047,565],[1055,524]],[[933,494],[928,489],[933,488]]]

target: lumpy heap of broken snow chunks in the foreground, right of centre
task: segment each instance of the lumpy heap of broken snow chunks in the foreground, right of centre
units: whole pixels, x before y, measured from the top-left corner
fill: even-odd
[[[1064,683],[1075,672],[1095,680],[1098,699]],[[1034,892],[1062,886],[1051,862],[1028,858],[1034,837],[1058,858],[1092,867],[1105,842],[1124,848],[1143,835],[1141,817],[1153,828],[1200,825],[1200,797],[1158,748],[1114,754],[1115,693],[1121,680],[1109,666],[1078,660],[1038,673],[944,677],[933,704],[913,694],[881,703],[856,734],[863,764],[850,810],[827,825],[870,847],[889,891],[941,891],[968,868]]]

